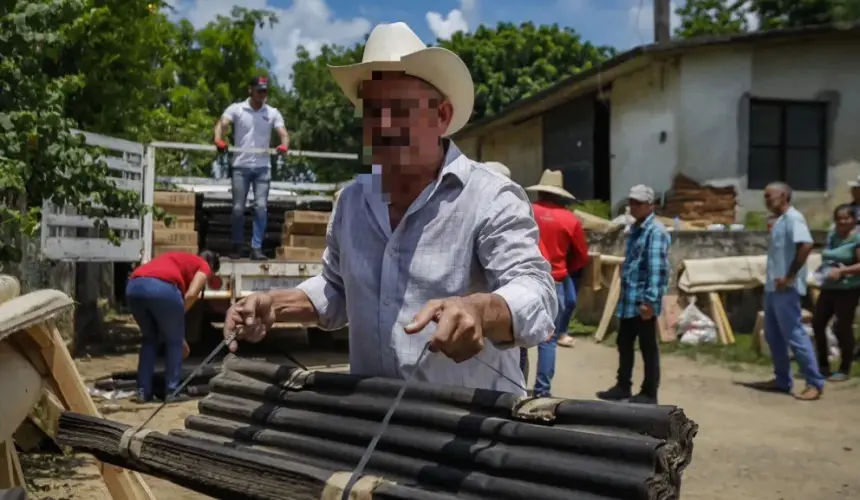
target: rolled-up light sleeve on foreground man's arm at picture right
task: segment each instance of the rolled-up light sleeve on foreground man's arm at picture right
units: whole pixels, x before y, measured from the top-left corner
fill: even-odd
[[[555,282],[538,248],[538,227],[525,191],[505,183],[492,200],[478,228],[478,259],[493,293],[511,311],[514,344],[508,347],[532,347],[555,329]]]

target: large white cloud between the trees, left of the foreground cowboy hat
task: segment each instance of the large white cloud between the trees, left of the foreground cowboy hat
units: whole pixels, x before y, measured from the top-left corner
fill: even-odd
[[[194,26],[204,26],[218,15],[229,15],[237,0],[172,0],[180,17]],[[244,0],[242,7],[266,9],[278,15],[273,28],[258,32],[260,43],[272,53],[272,72],[286,87],[292,85],[296,49],[304,46],[318,55],[326,44],[349,45],[361,41],[370,31],[370,21],[363,17],[340,19],[334,16],[325,0],[293,0],[287,8],[270,5],[268,0]]]

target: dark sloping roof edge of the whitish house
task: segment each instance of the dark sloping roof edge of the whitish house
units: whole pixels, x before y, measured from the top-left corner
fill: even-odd
[[[723,45],[745,45],[754,43],[796,43],[810,38],[855,38],[860,35],[860,23],[828,24],[801,28],[754,31],[731,35],[716,35],[672,40],[665,43],[640,45],[599,64],[593,68],[571,75],[553,85],[520,99],[500,112],[467,124],[454,136],[463,139],[483,135],[491,129],[510,123],[520,123],[537,116],[549,108],[581,94],[602,88],[619,76],[647,66],[654,59],[677,55],[692,50]]]

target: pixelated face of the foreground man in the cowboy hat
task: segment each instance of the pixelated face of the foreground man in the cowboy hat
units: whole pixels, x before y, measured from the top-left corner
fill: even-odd
[[[438,161],[441,137],[454,114],[438,90],[403,73],[375,72],[362,82],[359,95],[363,143],[374,165],[408,172]]]

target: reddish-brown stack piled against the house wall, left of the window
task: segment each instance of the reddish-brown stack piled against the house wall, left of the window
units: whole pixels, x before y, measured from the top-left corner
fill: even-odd
[[[683,220],[705,220],[714,224],[733,224],[737,193],[732,186],[703,186],[684,175],[677,175],[666,195],[661,215]]]

